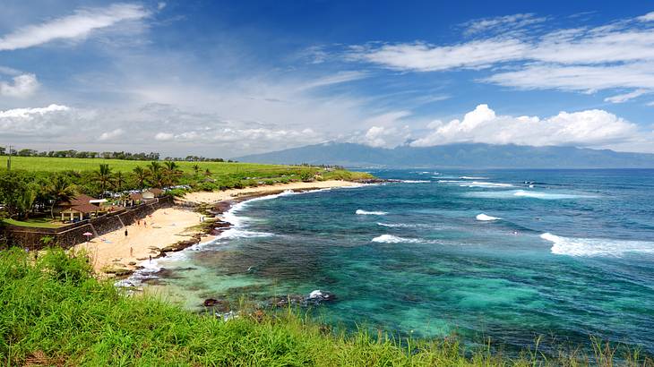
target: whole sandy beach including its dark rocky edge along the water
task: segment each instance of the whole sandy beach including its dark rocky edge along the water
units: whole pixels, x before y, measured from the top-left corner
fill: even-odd
[[[363,183],[331,180],[189,192],[176,198],[174,207],[157,209],[132,225],[100,235],[87,243],[79,243],[73,251],[87,252],[93,269],[101,277],[126,277],[140,269],[139,264],[144,260],[157,259],[166,252],[182,251],[196,243],[211,242],[221,231],[228,229],[230,224],[223,222],[221,216],[237,202],[288,190],[303,192],[361,185]],[[215,218],[197,210],[200,206],[211,206]],[[216,226],[211,226],[213,223]]]

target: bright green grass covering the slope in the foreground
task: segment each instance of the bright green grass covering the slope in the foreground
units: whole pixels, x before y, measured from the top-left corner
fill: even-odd
[[[126,297],[90,276],[82,256],[54,250],[39,260],[0,252],[0,364],[261,366],[585,365],[536,353],[507,358],[466,351],[452,340],[416,341],[334,335],[293,312],[221,321],[147,296]],[[611,350],[593,359],[613,365]],[[631,354],[622,362],[651,365]]]

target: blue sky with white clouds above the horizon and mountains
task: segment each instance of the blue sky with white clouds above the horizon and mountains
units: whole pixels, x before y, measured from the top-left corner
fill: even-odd
[[[654,152],[649,2],[25,3],[0,12],[2,144]]]

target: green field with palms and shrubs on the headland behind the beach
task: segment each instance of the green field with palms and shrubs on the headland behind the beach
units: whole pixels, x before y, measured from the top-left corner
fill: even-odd
[[[11,170],[0,169],[0,217],[12,219],[5,223],[40,227],[56,226],[43,219],[54,218],[56,205],[70,201],[76,194],[119,202],[130,191],[146,187],[180,195],[274,183],[372,177],[340,167],[218,161],[49,157],[12,157],[11,161]]]

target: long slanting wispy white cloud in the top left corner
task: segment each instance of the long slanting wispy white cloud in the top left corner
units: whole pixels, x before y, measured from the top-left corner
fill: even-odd
[[[81,39],[120,21],[147,17],[149,12],[138,4],[112,4],[104,8],[77,10],[73,15],[14,30],[0,38],[0,51],[34,47],[56,39]]]

